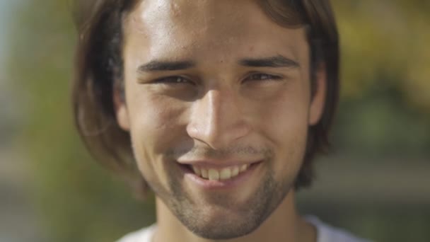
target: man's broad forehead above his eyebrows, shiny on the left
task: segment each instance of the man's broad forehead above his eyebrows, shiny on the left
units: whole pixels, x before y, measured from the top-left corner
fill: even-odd
[[[144,0],[124,26],[127,45],[149,59],[252,52],[298,59],[307,48],[303,28],[274,23],[253,0]]]

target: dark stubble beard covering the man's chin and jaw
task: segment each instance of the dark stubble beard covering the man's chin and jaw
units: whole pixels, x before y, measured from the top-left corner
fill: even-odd
[[[174,174],[169,175],[169,178],[174,177]],[[268,170],[252,197],[240,206],[233,204],[228,195],[214,196],[211,198],[211,204],[199,206],[182,185],[173,179],[168,181],[172,194],[158,195],[161,195],[159,197],[170,212],[192,233],[208,239],[229,239],[255,231],[284,200],[293,181],[294,179],[285,178],[278,182],[274,178],[274,172]],[[236,207],[236,210],[232,211],[232,207]],[[210,209],[217,209],[223,215],[219,216],[220,219],[209,220],[207,211]]]

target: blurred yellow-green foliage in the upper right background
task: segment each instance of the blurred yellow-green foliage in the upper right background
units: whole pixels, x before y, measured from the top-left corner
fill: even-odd
[[[342,42],[342,91],[359,97],[371,86],[393,86],[405,102],[430,113],[429,2],[334,1]],[[380,83],[385,76],[385,83]]]

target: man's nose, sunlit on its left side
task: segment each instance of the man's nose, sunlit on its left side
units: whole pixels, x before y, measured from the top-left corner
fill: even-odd
[[[209,90],[192,104],[187,133],[212,149],[228,148],[250,132],[243,108],[234,91]]]

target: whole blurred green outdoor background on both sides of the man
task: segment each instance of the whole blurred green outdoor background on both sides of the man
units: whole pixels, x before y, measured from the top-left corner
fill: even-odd
[[[0,242],[115,241],[154,219],[75,132],[70,3],[0,0]],[[430,241],[430,1],[332,4],[335,149],[298,207],[374,241]]]

